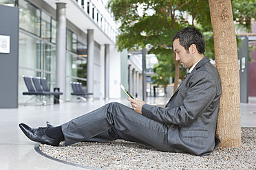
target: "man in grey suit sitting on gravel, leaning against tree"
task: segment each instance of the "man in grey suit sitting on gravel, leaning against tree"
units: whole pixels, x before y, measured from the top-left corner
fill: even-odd
[[[58,146],[81,141],[99,143],[124,139],[161,151],[209,154],[220,143],[215,136],[220,105],[220,77],[204,57],[204,38],[186,27],[173,38],[176,60],[189,74],[164,108],[131,99],[131,107],[109,103],[58,127],[33,128],[19,124],[32,141]]]

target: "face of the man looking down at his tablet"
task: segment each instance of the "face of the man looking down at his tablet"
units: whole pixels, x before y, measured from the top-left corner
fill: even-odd
[[[180,45],[179,39],[174,40],[173,51],[176,53],[175,59],[180,61],[180,64],[182,64],[185,69],[193,66],[193,58],[190,51],[186,51],[186,49]]]

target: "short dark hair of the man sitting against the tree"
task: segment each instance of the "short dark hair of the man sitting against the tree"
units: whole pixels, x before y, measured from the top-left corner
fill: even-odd
[[[184,47],[186,51],[189,51],[189,47],[195,44],[198,49],[198,53],[204,54],[204,37],[195,27],[185,27],[181,29],[180,32],[175,34],[173,41],[175,39],[180,40],[180,45]]]

